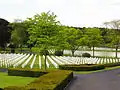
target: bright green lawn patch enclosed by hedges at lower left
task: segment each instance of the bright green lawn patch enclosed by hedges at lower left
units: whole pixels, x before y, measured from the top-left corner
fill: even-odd
[[[36,78],[31,77],[20,77],[20,76],[8,76],[7,73],[0,72],[0,88],[7,86],[23,86]]]

